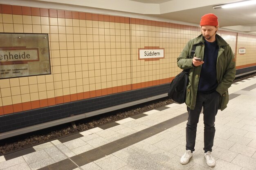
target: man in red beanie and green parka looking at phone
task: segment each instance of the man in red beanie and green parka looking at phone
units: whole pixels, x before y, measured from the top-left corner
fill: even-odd
[[[177,58],[181,69],[190,68],[189,84],[186,92],[186,105],[189,113],[186,124],[186,152],[180,163],[186,164],[195,150],[196,129],[203,108],[204,115],[204,157],[207,165],[215,166],[211,152],[215,135],[215,116],[218,109],[223,110],[229,101],[228,88],[235,74],[236,64],[231,47],[220,35],[218,17],[213,13],[202,16],[202,34],[189,40]],[[192,46],[195,54],[189,58]]]

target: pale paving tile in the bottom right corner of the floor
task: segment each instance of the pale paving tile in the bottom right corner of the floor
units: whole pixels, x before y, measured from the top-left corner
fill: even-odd
[[[241,154],[238,154],[237,157],[231,161],[231,163],[249,170],[255,170],[256,167],[256,159]]]

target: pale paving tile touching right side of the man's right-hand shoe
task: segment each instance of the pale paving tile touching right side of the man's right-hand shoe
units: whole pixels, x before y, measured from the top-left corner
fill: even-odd
[[[227,150],[227,149],[223,149],[223,148],[215,148],[212,152],[211,152],[213,157],[217,157],[220,158],[224,161],[227,162],[231,162],[237,155],[237,152],[233,152],[231,150]]]

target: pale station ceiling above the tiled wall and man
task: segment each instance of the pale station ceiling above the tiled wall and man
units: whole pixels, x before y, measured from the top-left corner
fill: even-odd
[[[245,0],[0,0],[3,4],[120,15],[199,26],[201,16],[214,13],[220,29],[256,35],[256,4],[231,9],[213,6]]]

